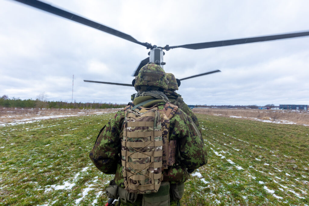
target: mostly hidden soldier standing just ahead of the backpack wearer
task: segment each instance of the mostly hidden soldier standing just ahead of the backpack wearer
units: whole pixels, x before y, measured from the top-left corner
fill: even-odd
[[[182,99],[181,96],[176,93],[176,90],[178,90],[178,86],[180,86],[180,82],[178,85],[178,82],[174,74],[172,73],[166,73],[166,78],[168,80],[168,84],[167,84],[168,89],[164,90],[164,94],[167,96],[168,100],[171,103],[176,104],[178,108],[184,111],[184,113],[186,113],[192,119],[193,123],[196,125],[198,131],[201,134],[202,129],[200,127],[200,124],[198,123],[197,117],[194,115],[193,111],[188,107],[188,105],[184,103],[184,99]]]

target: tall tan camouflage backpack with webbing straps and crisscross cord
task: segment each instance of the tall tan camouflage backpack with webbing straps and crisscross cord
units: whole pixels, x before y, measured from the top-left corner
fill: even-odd
[[[126,191],[146,194],[159,190],[163,179],[162,145],[157,108],[125,111],[121,163]]]

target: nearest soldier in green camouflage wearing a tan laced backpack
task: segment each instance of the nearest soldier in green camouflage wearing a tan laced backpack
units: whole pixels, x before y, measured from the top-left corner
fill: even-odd
[[[101,129],[90,158],[115,174],[106,193],[119,197],[116,205],[179,205],[187,170],[207,163],[205,145],[191,118],[168,102],[159,65],[145,65],[135,80],[136,98]]]

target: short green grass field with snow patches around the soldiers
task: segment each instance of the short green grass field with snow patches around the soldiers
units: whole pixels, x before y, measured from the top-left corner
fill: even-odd
[[[113,114],[0,127],[0,205],[105,205],[88,155]],[[183,205],[309,205],[309,127],[197,115],[208,164]]]

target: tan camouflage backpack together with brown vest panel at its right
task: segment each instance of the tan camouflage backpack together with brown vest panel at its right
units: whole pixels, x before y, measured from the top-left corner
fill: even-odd
[[[157,192],[162,170],[176,161],[176,141],[168,141],[169,119],[178,107],[166,103],[163,110],[125,108],[121,163],[125,190],[131,193]]]

